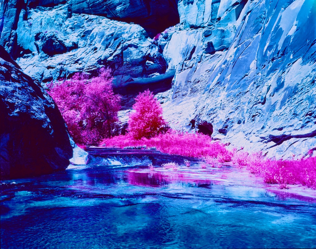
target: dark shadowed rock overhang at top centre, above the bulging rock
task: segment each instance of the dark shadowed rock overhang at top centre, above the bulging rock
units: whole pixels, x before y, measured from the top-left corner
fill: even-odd
[[[73,13],[136,23],[152,38],[179,23],[177,0],[71,0],[70,4]]]

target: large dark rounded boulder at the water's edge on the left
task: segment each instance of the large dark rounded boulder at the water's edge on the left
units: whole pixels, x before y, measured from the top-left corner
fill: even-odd
[[[67,168],[73,150],[56,104],[0,46],[1,179]]]

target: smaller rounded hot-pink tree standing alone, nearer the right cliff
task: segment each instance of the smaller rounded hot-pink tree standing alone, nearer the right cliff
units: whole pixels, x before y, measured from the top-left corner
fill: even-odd
[[[149,90],[139,93],[133,105],[135,110],[128,120],[128,131],[135,139],[150,138],[167,130],[161,104]]]

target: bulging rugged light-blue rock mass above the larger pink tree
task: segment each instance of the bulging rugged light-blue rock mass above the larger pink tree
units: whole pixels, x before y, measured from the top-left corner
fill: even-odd
[[[102,16],[70,16],[69,8],[29,9],[27,21],[19,20],[17,42],[22,49],[17,61],[25,73],[46,83],[107,66],[117,87],[140,78],[145,83],[171,81],[174,72],[164,74],[168,65],[160,45],[142,27]]]

